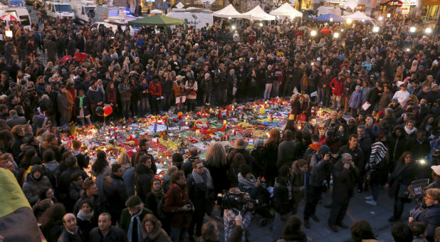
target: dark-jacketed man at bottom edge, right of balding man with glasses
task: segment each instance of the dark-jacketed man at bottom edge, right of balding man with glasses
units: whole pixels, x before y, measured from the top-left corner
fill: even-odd
[[[100,214],[98,227],[93,228],[89,233],[89,241],[100,242],[125,242],[127,234],[122,228],[112,226],[112,216],[108,213]]]

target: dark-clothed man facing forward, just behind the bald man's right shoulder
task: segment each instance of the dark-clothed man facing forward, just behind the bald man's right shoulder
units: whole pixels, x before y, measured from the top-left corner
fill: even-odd
[[[352,160],[355,163],[355,166],[360,171],[364,171],[365,167],[365,154],[362,152],[362,149],[359,147],[359,138],[357,135],[350,135],[348,137],[348,144],[345,144],[344,146],[340,147],[337,154],[351,154]],[[362,183],[363,179],[362,177],[357,177],[357,189],[362,190]]]

